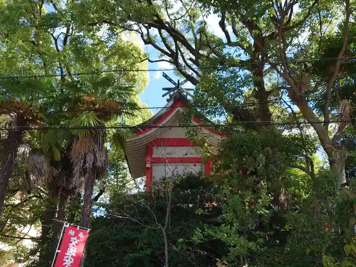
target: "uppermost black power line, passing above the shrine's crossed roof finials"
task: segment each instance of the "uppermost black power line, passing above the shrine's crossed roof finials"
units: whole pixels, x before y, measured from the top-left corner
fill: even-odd
[[[356,56],[349,57],[329,57],[329,58],[311,58],[309,60],[293,60],[287,61],[286,63],[308,63],[314,61],[334,61],[334,60],[355,60]],[[228,68],[238,68],[242,66],[252,66],[258,64],[270,64],[269,62],[241,62],[235,66],[224,66],[224,65],[209,65],[209,66],[197,66],[197,67],[182,67],[182,68],[160,68],[160,69],[122,69],[122,70],[103,70],[103,71],[91,71],[91,72],[77,72],[77,73],[65,73],[65,74],[43,74],[43,75],[23,75],[23,76],[0,76],[0,79],[14,79],[14,78],[40,78],[40,77],[61,77],[61,76],[74,76],[74,75],[86,75],[86,74],[97,74],[97,73],[120,73],[120,72],[154,72],[154,71],[180,71],[180,70],[201,70],[201,69],[228,69]],[[273,62],[272,64],[277,64]]]

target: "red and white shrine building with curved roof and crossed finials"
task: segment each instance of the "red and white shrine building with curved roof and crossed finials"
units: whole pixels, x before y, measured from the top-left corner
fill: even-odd
[[[162,96],[169,96],[168,103],[149,120],[137,125],[135,134],[126,142],[131,176],[133,179],[145,176],[146,186],[158,182],[162,177],[173,177],[184,172],[203,171],[211,174],[211,160],[204,162],[200,148],[186,136],[189,123],[180,124],[184,112],[189,108],[187,96],[191,96],[188,91],[192,89],[181,87],[187,80],[174,82],[165,73],[163,77],[174,85],[163,88],[168,91]],[[192,118],[191,126],[198,127],[198,137],[205,137],[213,151],[218,150],[219,142],[227,136],[205,127],[206,121],[203,124],[196,117]]]

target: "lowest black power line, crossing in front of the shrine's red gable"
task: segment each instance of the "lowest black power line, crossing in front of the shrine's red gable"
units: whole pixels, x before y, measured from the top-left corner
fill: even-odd
[[[327,123],[342,123],[349,122],[349,120],[354,120],[356,117],[351,117],[347,120],[329,120]],[[228,123],[228,122],[224,122]],[[181,125],[155,125],[155,124],[141,124],[141,125],[126,125],[126,126],[39,126],[39,127],[31,127],[31,126],[17,126],[16,128],[0,128],[0,130],[15,130],[20,129],[23,131],[26,130],[99,130],[99,129],[132,129],[132,128],[195,128],[195,127],[209,127],[209,128],[224,128],[224,127],[233,127],[233,126],[244,126],[244,125],[300,125],[300,124],[323,124],[323,121],[317,122],[270,122],[270,121],[247,121],[247,122],[233,122],[228,124],[181,124]]]

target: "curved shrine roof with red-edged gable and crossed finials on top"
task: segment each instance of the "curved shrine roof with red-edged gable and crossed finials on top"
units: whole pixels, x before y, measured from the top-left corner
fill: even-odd
[[[168,103],[149,120],[136,125],[134,127],[135,134],[127,138],[125,155],[130,173],[134,179],[145,175],[147,146],[154,148],[152,146],[153,141],[158,140],[161,137],[167,139],[187,138],[186,126],[181,126],[179,121],[187,108],[192,105],[187,98],[187,95],[192,96],[189,93],[192,89],[183,88],[181,86],[187,82],[186,80],[182,83],[180,83],[179,80],[174,82],[165,73],[163,73],[163,76],[174,85],[174,87],[163,88],[164,91],[168,91],[162,96],[165,97],[169,94],[169,99],[167,100]],[[206,138],[206,141],[210,143],[214,152],[218,150],[222,138],[227,135],[215,131],[210,127],[206,127],[206,125],[204,125],[206,123],[213,124],[212,121],[207,119],[201,113],[194,114],[194,117],[191,120],[191,125],[197,126],[199,129],[197,132],[198,137]]]

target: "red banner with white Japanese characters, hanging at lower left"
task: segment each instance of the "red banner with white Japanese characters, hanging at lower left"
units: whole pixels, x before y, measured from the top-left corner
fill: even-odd
[[[78,267],[87,238],[88,230],[68,226],[54,267]]]

